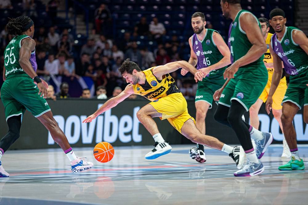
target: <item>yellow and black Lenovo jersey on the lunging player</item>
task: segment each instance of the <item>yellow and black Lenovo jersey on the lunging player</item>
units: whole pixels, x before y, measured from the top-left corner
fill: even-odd
[[[150,101],[156,101],[172,93],[180,93],[180,90],[175,85],[174,79],[168,73],[163,75],[162,80],[158,80],[153,74],[154,68],[152,67],[142,71],[145,74],[146,80],[143,85],[139,83],[133,85],[135,94],[141,95]]]

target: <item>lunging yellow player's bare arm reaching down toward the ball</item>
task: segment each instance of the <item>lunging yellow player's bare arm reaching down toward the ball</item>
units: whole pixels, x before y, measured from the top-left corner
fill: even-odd
[[[96,112],[94,112],[92,115],[88,116],[85,120],[83,120],[83,123],[91,122],[97,116],[115,107],[117,104],[124,101],[126,98],[128,98],[133,93],[134,93],[134,90],[133,90],[132,84],[127,85],[126,88],[118,96],[107,100],[98,110],[96,110]]]

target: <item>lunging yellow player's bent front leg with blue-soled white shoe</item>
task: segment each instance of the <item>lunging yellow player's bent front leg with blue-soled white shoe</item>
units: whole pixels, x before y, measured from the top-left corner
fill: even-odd
[[[164,103],[163,98],[159,100],[160,102]],[[156,109],[158,109],[159,107],[160,104],[156,104]],[[155,121],[152,119],[152,117],[162,117],[162,113],[158,112],[156,109],[153,107],[152,104],[149,103],[137,112],[138,120],[141,124],[143,124],[143,126],[148,130],[148,132],[150,132],[155,141],[154,149],[152,149],[151,152],[148,152],[145,155],[145,159],[148,160],[156,159],[159,156],[168,154],[172,150],[172,147],[168,144],[168,142],[165,142],[165,140],[161,136]]]

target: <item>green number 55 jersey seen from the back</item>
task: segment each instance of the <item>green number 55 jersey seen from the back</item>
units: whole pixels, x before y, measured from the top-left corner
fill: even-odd
[[[4,50],[4,67],[5,77],[9,79],[11,77],[29,77],[21,68],[19,64],[19,50],[21,48],[21,41],[24,38],[30,38],[27,35],[15,36]],[[37,64],[35,61],[35,49],[31,52],[30,63],[36,72]],[[30,78],[30,77],[29,77]]]

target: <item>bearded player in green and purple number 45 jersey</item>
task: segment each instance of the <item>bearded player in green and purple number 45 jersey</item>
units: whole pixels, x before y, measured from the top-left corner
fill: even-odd
[[[205,29],[205,16],[201,12],[192,15],[191,23],[195,34],[188,40],[190,58],[188,63],[204,74],[202,81],[198,81],[195,97],[196,126],[205,135],[205,117],[208,109],[212,108],[213,94],[224,85],[223,73],[230,64],[230,50],[221,35],[213,29]],[[185,75],[188,71],[181,70]],[[206,161],[204,146],[197,144],[197,148],[189,150],[189,156],[197,162]]]

